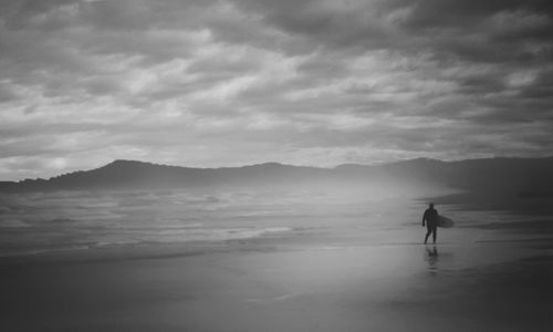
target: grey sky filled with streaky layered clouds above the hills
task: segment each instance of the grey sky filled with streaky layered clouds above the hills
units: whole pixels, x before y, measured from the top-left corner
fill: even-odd
[[[551,156],[553,2],[2,0],[0,180]]]

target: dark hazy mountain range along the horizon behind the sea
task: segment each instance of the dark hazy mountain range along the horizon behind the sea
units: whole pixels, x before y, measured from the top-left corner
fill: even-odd
[[[234,188],[450,188],[520,197],[553,196],[553,157],[486,158],[458,162],[411,159],[382,165],[334,168],[265,163],[243,167],[190,168],[136,160],[115,160],[103,167],[49,179],[0,181],[0,193],[126,189]]]

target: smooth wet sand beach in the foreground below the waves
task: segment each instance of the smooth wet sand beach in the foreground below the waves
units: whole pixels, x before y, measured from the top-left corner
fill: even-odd
[[[418,229],[417,229],[418,230]],[[0,260],[2,331],[551,331],[549,239],[273,236]]]

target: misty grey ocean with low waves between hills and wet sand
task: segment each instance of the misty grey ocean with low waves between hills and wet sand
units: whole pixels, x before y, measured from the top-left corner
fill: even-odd
[[[294,238],[321,246],[418,245],[428,199],[324,193],[56,191],[0,197],[0,256],[104,247]],[[437,206],[456,226],[438,241],[472,247],[552,237],[551,216]],[[509,246],[501,246],[507,250]],[[505,248],[503,248],[505,247]],[[507,250],[508,251],[508,250]]]

